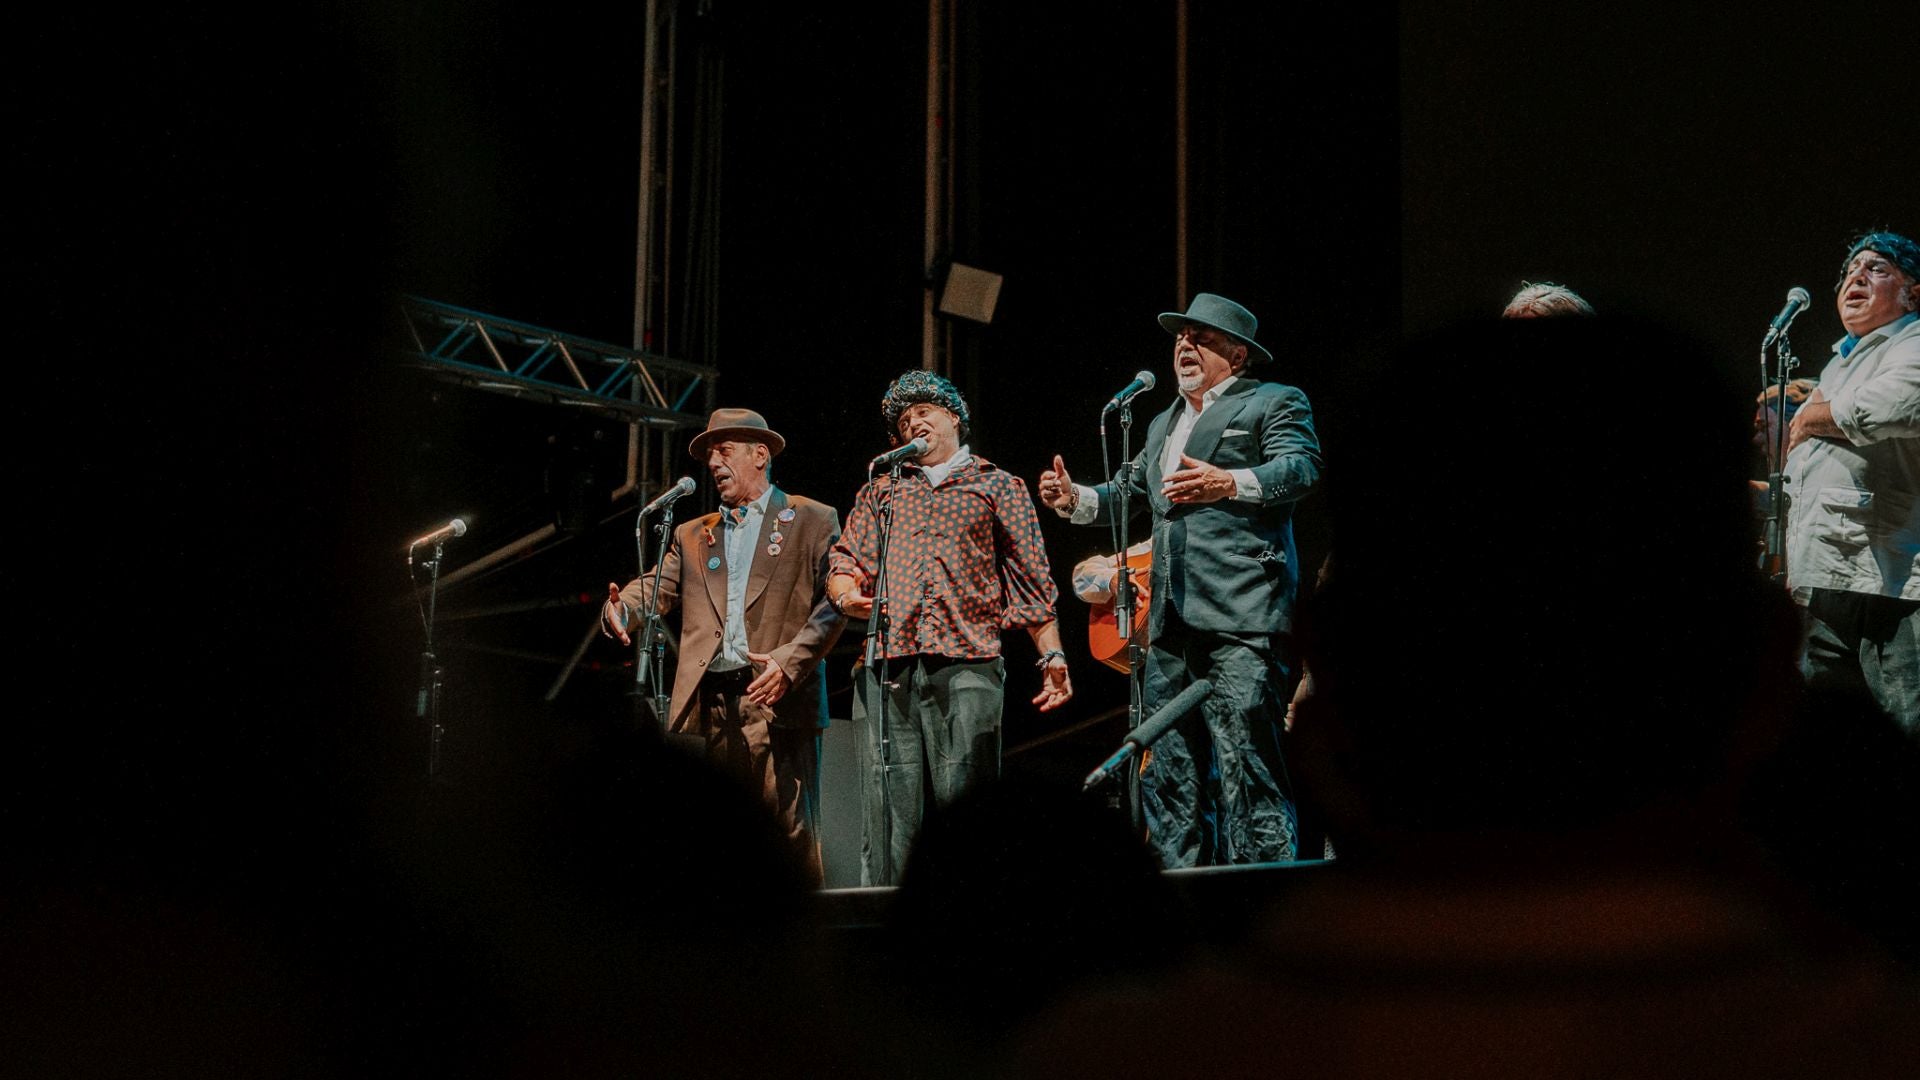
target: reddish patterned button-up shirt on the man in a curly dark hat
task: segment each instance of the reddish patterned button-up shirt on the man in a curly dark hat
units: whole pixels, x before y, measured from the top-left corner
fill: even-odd
[[[881,500],[893,513],[887,655],[991,659],[1000,655],[1002,630],[1054,621],[1060,590],[1020,477],[973,457],[937,488],[912,463],[897,488],[891,477],[868,480],[828,555],[828,573],[852,577],[868,596],[879,567]]]

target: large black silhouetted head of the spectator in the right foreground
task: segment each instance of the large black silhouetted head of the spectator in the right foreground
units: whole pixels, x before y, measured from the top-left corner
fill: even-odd
[[[1793,613],[1755,565],[1751,392],[1707,357],[1619,319],[1488,319],[1388,363],[1302,619],[1298,734],[1331,740],[1350,830],[1592,826],[1741,761]],[[1619,392],[1624,359],[1649,390]],[[1461,373],[1471,396],[1438,388]]]

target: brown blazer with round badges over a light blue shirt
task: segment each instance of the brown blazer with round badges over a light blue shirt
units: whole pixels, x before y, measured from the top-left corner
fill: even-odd
[[[793,521],[780,521],[781,511]],[[781,534],[772,555],[774,532]],[[712,536],[712,544],[707,538]],[[774,703],[774,723],[822,728],[828,724],[826,678],[820,661],[847,628],[847,617],[828,603],[828,550],[839,540],[839,511],[780,488],[766,500],[760,538],[753,548],[747,575],[747,648],[770,653],[787,673],[791,686]],[[720,565],[707,569],[712,557]],[[674,528],[674,542],[659,565],[660,613],[680,607],[680,665],[668,713],[670,732],[695,728],[693,692],[707,665],[720,655],[726,630],[726,538],[718,513],[695,517]],[[645,609],[653,592],[653,571],[630,580],[620,600],[630,609]],[[637,626],[636,626],[637,628]]]

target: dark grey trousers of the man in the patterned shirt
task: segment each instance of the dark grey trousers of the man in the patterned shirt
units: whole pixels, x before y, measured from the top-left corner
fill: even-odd
[[[893,657],[887,680],[881,717],[877,673],[862,669],[854,678],[862,886],[899,884],[927,798],[945,805],[968,784],[1000,774],[1004,661]]]

